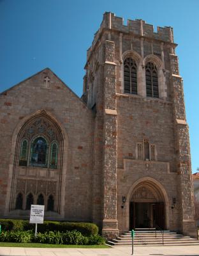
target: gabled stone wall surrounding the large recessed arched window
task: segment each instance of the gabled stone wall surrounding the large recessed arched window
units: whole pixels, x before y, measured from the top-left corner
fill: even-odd
[[[50,77],[48,87],[44,77]],[[68,138],[63,176],[63,211],[65,220],[91,220],[92,179],[92,111],[78,99],[49,69],[45,69],[0,95],[0,214],[10,201],[9,184],[13,170],[12,155],[15,129],[24,124],[27,116],[45,109],[63,127]],[[6,208],[7,209],[7,208]]]

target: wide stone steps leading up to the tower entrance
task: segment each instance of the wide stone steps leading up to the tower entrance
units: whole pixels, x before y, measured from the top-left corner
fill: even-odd
[[[111,246],[131,246],[131,232],[126,232],[121,236],[108,242]],[[199,241],[189,236],[183,236],[169,230],[156,230],[155,228],[136,228],[135,246],[170,246],[170,245],[199,245]]]

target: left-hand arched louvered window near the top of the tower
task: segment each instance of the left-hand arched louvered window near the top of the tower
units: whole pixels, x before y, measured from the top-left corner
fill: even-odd
[[[124,93],[137,94],[136,63],[132,58],[124,60]]]

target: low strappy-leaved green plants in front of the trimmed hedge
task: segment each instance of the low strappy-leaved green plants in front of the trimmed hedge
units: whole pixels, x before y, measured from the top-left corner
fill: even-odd
[[[0,234],[1,242],[12,243],[47,243],[47,244],[105,244],[105,239],[99,235],[83,236],[79,231],[66,231],[66,232],[45,232],[38,233],[37,237],[34,237],[32,230],[20,231],[11,230],[3,231]]]

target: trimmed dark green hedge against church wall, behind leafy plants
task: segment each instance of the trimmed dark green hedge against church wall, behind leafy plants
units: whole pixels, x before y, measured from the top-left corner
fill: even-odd
[[[6,230],[34,230],[34,224],[30,224],[28,220],[11,220],[0,219],[1,229]],[[66,231],[77,230],[84,236],[94,236],[98,234],[98,226],[93,223],[84,222],[59,222],[59,221],[44,221],[38,225],[38,232],[45,233],[49,231]]]

